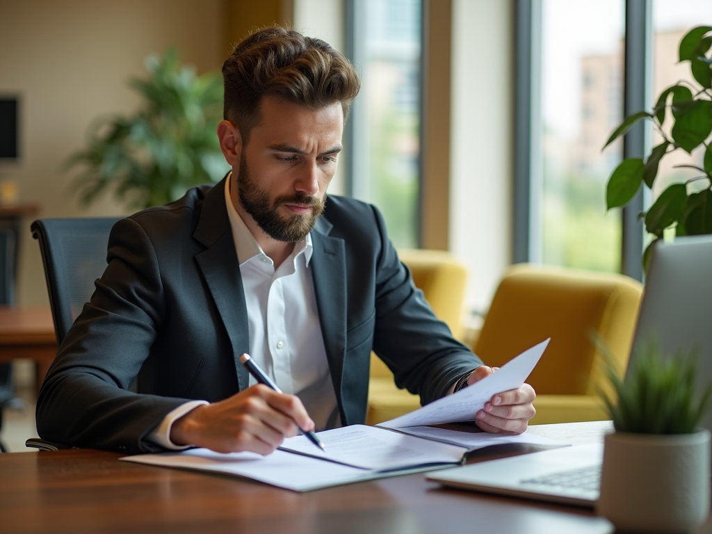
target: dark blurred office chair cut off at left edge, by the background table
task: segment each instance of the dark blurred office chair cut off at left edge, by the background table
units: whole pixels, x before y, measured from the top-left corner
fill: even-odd
[[[15,233],[10,230],[0,230],[0,305],[11,306],[14,303]],[[3,409],[23,409],[23,407],[23,402],[15,397],[12,364],[0,364],[0,431],[2,430]],[[0,452],[6,451],[6,446],[0,441]]]

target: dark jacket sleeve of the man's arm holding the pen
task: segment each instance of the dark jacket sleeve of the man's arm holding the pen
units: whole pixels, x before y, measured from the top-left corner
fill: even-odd
[[[79,447],[161,450],[145,438],[187,399],[128,390],[164,317],[156,253],[142,226],[122,219],[111,231],[107,259],[42,385],[37,431]]]

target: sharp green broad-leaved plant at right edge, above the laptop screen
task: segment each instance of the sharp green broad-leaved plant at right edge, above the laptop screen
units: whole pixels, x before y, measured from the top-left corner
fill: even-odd
[[[626,117],[606,142],[607,147],[640,120],[650,120],[663,141],[653,147],[649,157],[629,157],[613,171],[608,181],[608,209],[627,204],[641,184],[652,189],[661,159],[677,150],[691,154],[704,147],[703,164],[679,165],[700,174],[682,184],[669,185],[656,199],[645,218],[645,229],[654,237],[643,255],[646,266],[654,242],[664,230],[674,226],[677,236],[712,234],[712,26],[699,26],[686,33],[680,43],[679,60],[689,61],[699,85],[680,82],[666,88],[651,112],[640,111]],[[670,112],[668,112],[668,108]],[[668,128],[672,121],[672,127]],[[706,180],[706,182],[703,182]],[[690,188],[692,182],[706,187]]]

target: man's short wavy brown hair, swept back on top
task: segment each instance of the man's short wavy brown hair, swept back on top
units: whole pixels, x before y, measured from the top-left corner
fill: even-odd
[[[264,96],[315,109],[338,102],[346,120],[361,85],[350,61],[328,43],[281,26],[244,38],[223,63],[222,73],[224,118],[239,128],[244,142],[261,120]]]

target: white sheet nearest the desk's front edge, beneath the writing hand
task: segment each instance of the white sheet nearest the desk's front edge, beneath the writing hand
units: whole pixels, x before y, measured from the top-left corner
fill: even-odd
[[[374,478],[373,474],[365,469],[285,451],[274,451],[268,456],[260,456],[249,452],[220,454],[209,449],[190,449],[177,453],[125,456],[122,460],[244,476],[293,491],[308,491]]]

